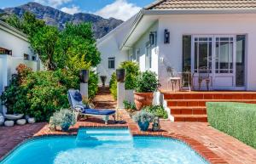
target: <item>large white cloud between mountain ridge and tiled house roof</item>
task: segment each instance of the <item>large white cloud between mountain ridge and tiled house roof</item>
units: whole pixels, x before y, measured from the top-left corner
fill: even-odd
[[[136,4],[128,3],[127,0],[115,0],[114,3],[108,4],[94,14],[100,15],[103,18],[113,17],[119,20],[128,20],[131,16],[137,14],[140,9]]]

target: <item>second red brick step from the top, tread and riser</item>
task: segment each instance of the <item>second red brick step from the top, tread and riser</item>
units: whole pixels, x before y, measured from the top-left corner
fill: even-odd
[[[256,104],[256,99],[167,99],[167,106],[206,106],[206,102],[241,102]]]

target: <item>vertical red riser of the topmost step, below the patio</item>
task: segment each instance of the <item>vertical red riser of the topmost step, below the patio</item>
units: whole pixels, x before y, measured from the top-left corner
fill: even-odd
[[[204,93],[204,94],[165,94],[165,99],[256,99],[256,93],[245,93],[245,94],[218,94],[218,93]]]

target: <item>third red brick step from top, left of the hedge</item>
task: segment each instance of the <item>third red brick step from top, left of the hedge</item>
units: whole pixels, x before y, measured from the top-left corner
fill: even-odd
[[[207,115],[206,106],[168,106],[171,115]]]

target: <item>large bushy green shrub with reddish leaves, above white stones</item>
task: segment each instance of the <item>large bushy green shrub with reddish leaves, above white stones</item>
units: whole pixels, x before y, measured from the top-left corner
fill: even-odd
[[[26,69],[24,69],[26,71]],[[72,71],[18,71],[1,97],[9,113],[24,113],[38,122],[49,121],[56,110],[68,108],[67,90],[79,88],[79,76]]]

